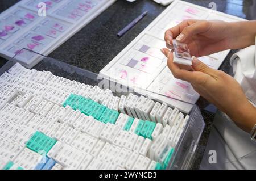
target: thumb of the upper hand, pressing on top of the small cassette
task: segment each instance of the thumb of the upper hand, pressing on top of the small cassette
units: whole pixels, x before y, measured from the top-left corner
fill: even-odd
[[[206,20],[199,20],[196,23],[191,24],[190,26],[186,26],[180,32],[179,36],[177,36],[176,40],[180,42],[184,42],[189,37],[193,35],[207,32],[210,28],[210,23]]]

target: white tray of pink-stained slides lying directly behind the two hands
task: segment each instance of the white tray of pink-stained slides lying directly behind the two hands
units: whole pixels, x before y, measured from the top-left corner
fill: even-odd
[[[167,58],[160,52],[166,47],[164,32],[185,19],[218,19],[226,22],[245,20],[192,3],[174,1],[110,61],[99,76],[113,79],[140,94],[188,113],[200,95],[190,83],[172,76],[167,67]],[[225,50],[199,59],[211,68],[218,69],[228,53],[229,50]]]

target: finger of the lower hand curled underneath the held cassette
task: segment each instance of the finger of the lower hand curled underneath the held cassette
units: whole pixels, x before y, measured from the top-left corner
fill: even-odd
[[[168,61],[167,61],[168,68],[171,70],[175,78],[181,79],[187,82],[197,82],[199,81],[199,79],[203,78],[202,76],[203,73],[199,74],[196,71],[188,71],[188,70],[179,68],[179,66],[173,62],[174,56],[172,52],[170,52],[170,50],[163,48],[161,51],[168,58]]]

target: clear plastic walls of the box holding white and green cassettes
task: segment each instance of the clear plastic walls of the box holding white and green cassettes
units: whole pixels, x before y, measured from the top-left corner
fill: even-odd
[[[16,54],[16,56],[14,56],[10,61],[2,66],[2,68],[0,69],[0,75],[2,75],[5,71],[9,70],[11,66],[13,66],[19,60],[20,54],[21,53]],[[91,71],[77,68],[76,66],[72,66],[62,61],[43,56],[41,54],[32,52],[31,50],[22,49],[22,56],[32,56],[38,58],[40,62],[33,68],[36,70],[51,71],[54,75],[89,84],[92,86],[98,85],[98,83],[102,81],[109,82],[109,85],[111,83],[114,83],[106,79],[102,80],[102,78],[98,78],[98,74],[92,73]],[[108,87],[104,88],[106,89]],[[113,94],[115,96],[121,96],[127,95],[130,92],[133,92],[133,90],[129,90],[129,92],[119,93],[113,92]],[[137,93],[134,92],[134,94]],[[193,166],[196,148],[199,144],[201,134],[203,133],[205,123],[199,107],[197,107],[196,105],[193,106],[192,111],[189,113],[189,116],[190,117],[188,124],[185,127],[178,144],[176,145],[174,156],[171,158],[167,169],[191,169]]]

